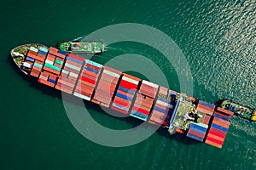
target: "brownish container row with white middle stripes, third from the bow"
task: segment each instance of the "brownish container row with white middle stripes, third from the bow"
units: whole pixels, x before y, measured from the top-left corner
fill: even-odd
[[[65,65],[55,88],[67,94],[72,94],[83,65],[83,58],[74,54],[67,54]]]

